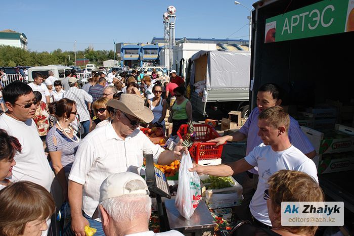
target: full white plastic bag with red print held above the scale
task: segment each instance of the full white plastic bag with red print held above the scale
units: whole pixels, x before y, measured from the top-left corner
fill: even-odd
[[[191,156],[189,153],[183,153],[178,176],[175,206],[186,219],[191,218],[201,198],[199,175],[195,171],[190,172],[189,168],[193,168]]]

